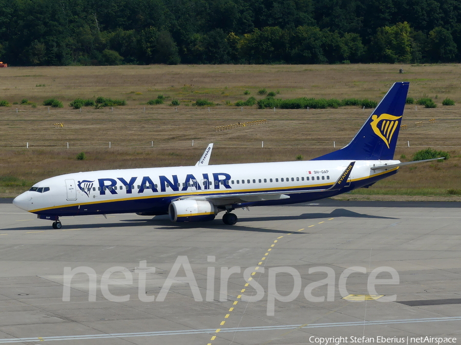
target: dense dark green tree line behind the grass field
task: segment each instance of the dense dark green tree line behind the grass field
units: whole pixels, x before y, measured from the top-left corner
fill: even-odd
[[[0,0],[11,65],[461,61],[457,0]]]

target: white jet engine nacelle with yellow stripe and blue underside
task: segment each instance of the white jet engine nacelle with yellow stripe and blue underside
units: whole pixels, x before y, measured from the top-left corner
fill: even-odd
[[[168,214],[172,222],[202,222],[215,219],[218,209],[208,201],[185,199],[173,201]]]

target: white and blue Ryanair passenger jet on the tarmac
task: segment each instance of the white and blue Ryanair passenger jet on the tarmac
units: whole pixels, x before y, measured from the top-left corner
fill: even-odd
[[[195,166],[79,172],[51,177],[17,196],[20,209],[53,221],[60,216],[137,213],[173,222],[209,221],[238,208],[292,204],[369,187],[391,176],[408,82],[394,83],[352,141],[308,161],[208,165],[212,144]],[[427,160],[425,160],[427,161]],[[425,162],[424,161],[424,162]],[[420,161],[422,162],[422,161]]]

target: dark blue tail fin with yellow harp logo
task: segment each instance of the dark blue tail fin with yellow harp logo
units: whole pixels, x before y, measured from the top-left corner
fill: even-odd
[[[312,160],[393,159],[409,84],[394,83],[347,146]]]

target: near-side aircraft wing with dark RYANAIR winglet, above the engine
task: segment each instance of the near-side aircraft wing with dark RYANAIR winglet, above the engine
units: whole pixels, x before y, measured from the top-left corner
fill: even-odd
[[[309,189],[309,190],[280,190],[277,192],[261,192],[261,193],[237,193],[237,194],[220,194],[210,196],[190,196],[187,199],[195,200],[208,200],[214,203],[228,204],[228,203],[239,203],[239,202],[255,202],[264,200],[281,200],[288,199],[289,194],[300,194],[300,193],[320,193],[337,191],[346,186],[349,175],[354,167],[355,162],[351,162],[341,176],[333,186],[324,189]]]

